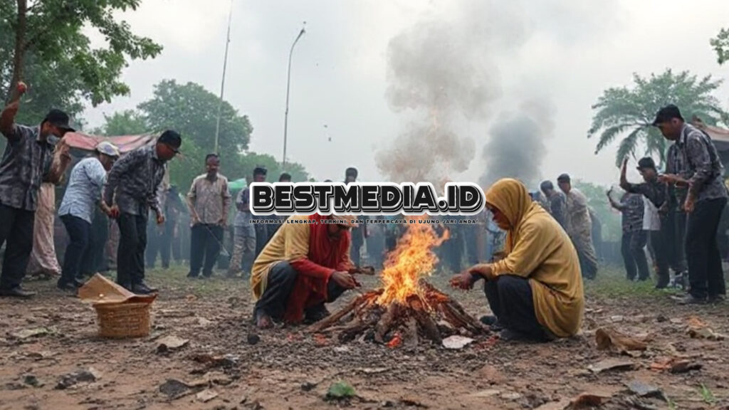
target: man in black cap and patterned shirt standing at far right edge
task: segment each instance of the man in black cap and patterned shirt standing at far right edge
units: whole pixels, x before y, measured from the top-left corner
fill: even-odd
[[[724,166],[709,136],[685,123],[675,105],[661,108],[653,125],[675,147],[668,157],[668,168],[674,174],[664,174],[660,180],[687,187],[683,209],[687,212],[685,249],[690,290],[681,303],[722,302],[726,285],[717,230],[728,198]]]

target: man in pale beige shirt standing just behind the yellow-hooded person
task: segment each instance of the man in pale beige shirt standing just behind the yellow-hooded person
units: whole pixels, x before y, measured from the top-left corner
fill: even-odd
[[[597,276],[597,254],[592,240],[592,220],[588,209],[588,198],[572,187],[572,179],[568,174],[557,178],[559,189],[566,196],[565,231],[572,239],[577,256],[580,257],[582,276],[595,279]]]

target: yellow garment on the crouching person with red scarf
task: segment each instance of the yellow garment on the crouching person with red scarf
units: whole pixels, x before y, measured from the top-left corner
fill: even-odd
[[[258,300],[266,290],[268,271],[281,260],[307,258],[309,254],[310,226],[306,215],[295,215],[284,222],[273,238],[268,241],[253,263],[251,290],[254,300]],[[301,221],[297,223],[297,221]]]

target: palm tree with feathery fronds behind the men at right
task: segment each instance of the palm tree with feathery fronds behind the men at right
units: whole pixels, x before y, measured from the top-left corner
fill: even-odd
[[[722,83],[711,75],[698,80],[688,71],[674,74],[670,69],[663,74],[650,74],[649,78],[633,75],[631,88],[608,88],[592,109],[596,110],[588,138],[599,136],[595,153],[607,147],[617,136],[624,136],[615,156],[615,165],[625,155],[636,155],[639,147],[646,155],[657,155],[663,162],[666,139],[651,124],[655,113],[666,104],[676,104],[686,120],[700,117],[707,124],[716,124],[727,118],[719,101],[712,96]]]

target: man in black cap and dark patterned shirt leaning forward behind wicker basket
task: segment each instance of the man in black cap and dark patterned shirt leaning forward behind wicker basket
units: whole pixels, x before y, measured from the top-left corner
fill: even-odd
[[[117,283],[141,295],[155,292],[144,284],[144,250],[147,247],[147,214],[165,222],[160,209],[160,185],[167,162],[177,155],[182,137],[165,131],[153,145],[137,148],[114,163],[104,189],[104,201],[117,217],[120,239],[117,251]],[[116,204],[114,204],[114,201]]]

